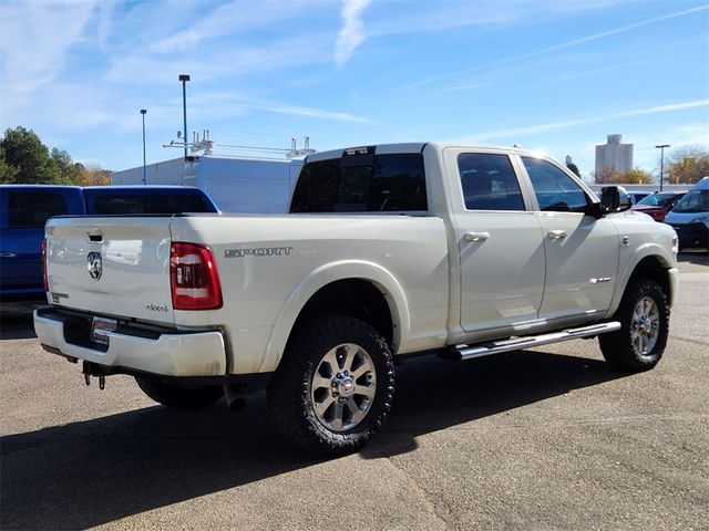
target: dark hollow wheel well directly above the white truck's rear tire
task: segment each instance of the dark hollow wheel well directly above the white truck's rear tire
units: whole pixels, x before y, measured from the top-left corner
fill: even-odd
[[[383,293],[361,279],[339,280],[320,288],[298,315],[294,330],[314,315],[332,314],[361,319],[372,325],[393,348],[391,311]]]

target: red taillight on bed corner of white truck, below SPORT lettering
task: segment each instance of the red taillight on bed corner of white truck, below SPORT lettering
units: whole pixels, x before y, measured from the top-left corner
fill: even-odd
[[[175,310],[222,308],[222,287],[212,250],[197,243],[173,242],[169,280]]]

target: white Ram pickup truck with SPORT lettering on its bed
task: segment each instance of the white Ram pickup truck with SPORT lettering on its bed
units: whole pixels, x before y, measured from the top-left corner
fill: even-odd
[[[517,148],[319,153],[288,215],[51,219],[34,327],[86,382],[133,375],[166,406],[266,387],[288,439],[341,455],[384,423],[397,356],[598,336],[620,369],[654,367],[677,236],[629,207]]]

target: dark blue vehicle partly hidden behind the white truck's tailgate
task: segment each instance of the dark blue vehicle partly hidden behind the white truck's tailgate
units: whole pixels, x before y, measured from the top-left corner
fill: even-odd
[[[0,302],[43,300],[42,239],[52,216],[218,212],[201,189],[179,186],[0,185]]]

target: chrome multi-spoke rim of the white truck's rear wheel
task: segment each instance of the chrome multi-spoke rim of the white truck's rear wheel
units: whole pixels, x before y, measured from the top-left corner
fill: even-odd
[[[347,431],[367,416],[377,391],[377,371],[361,346],[345,343],[320,361],[310,383],[315,415],[326,428]]]

